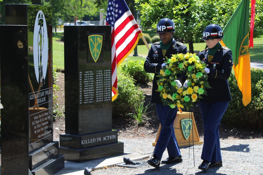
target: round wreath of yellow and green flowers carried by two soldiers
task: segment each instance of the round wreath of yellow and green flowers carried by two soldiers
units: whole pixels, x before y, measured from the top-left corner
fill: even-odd
[[[201,94],[206,94],[206,89],[211,88],[204,73],[205,63],[199,60],[196,54],[176,54],[171,58],[166,57],[166,66],[160,70],[158,92],[164,105],[171,108],[191,108],[202,98]],[[178,87],[175,80],[178,74],[186,72],[187,86]]]

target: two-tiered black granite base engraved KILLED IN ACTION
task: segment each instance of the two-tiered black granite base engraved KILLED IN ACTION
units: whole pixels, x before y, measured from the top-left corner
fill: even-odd
[[[59,135],[59,153],[65,160],[82,162],[124,153],[123,142],[118,142],[118,131],[105,131],[86,135]]]

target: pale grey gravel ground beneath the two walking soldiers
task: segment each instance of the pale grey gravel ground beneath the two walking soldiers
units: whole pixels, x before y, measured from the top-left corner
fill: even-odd
[[[124,152],[139,153],[149,155],[151,157],[154,147],[151,140],[147,137],[140,139],[127,139],[120,137],[118,141],[124,142]],[[208,171],[198,169],[202,162],[201,153],[203,145],[180,147],[183,162],[177,164],[161,164],[160,169],[156,169],[150,165],[138,168],[125,167],[107,167],[92,171],[93,175],[192,175],[192,174],[263,174],[263,157],[262,157],[263,139],[250,140],[221,140],[221,154],[223,158],[223,167],[214,167]],[[167,150],[163,154],[162,160],[168,157]],[[146,162],[148,159],[140,160]]]

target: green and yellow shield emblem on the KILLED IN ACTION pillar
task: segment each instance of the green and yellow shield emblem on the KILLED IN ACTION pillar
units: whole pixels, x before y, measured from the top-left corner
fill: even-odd
[[[95,62],[99,58],[101,47],[102,47],[102,35],[90,35],[89,36],[89,50]]]

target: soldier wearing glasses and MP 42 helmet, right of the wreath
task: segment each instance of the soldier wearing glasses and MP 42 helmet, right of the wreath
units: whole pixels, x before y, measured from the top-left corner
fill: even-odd
[[[205,73],[208,74],[208,82],[212,87],[207,90],[207,96],[202,96],[199,101],[204,124],[204,145],[201,155],[203,162],[198,167],[202,170],[222,166],[219,124],[229,101],[232,100],[227,79],[233,66],[231,50],[219,43],[223,37],[219,25],[208,25],[202,38],[208,48],[199,53],[200,60],[207,65]]]

